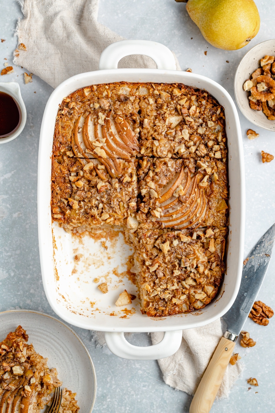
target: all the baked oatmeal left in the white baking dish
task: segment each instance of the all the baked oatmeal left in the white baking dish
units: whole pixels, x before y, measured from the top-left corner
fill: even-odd
[[[144,314],[204,307],[224,273],[223,107],[183,84],[120,82],[72,93],[56,118],[52,218],[68,232],[125,228]]]

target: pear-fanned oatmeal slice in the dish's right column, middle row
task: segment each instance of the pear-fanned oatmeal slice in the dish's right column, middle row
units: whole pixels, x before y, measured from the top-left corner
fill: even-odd
[[[190,231],[204,225],[227,225],[226,164],[200,160],[149,158],[139,160],[138,220],[144,228]]]

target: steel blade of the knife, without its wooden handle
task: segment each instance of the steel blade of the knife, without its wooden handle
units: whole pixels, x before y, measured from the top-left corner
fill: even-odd
[[[230,338],[226,334],[226,338],[235,341],[242,331],[268,270],[274,240],[275,224],[266,231],[244,261],[237,298],[230,310],[223,316],[227,331],[232,335]]]

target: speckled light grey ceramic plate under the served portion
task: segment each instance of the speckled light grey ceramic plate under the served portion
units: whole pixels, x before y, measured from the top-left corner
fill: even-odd
[[[31,310],[0,313],[0,341],[21,325],[28,343],[48,358],[49,368],[55,367],[63,387],[76,392],[80,412],[90,413],[96,399],[96,372],[84,343],[68,325],[47,314]]]

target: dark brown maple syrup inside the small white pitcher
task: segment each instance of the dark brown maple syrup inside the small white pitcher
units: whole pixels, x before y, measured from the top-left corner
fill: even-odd
[[[0,92],[0,138],[15,132],[20,121],[20,112],[12,96]]]

